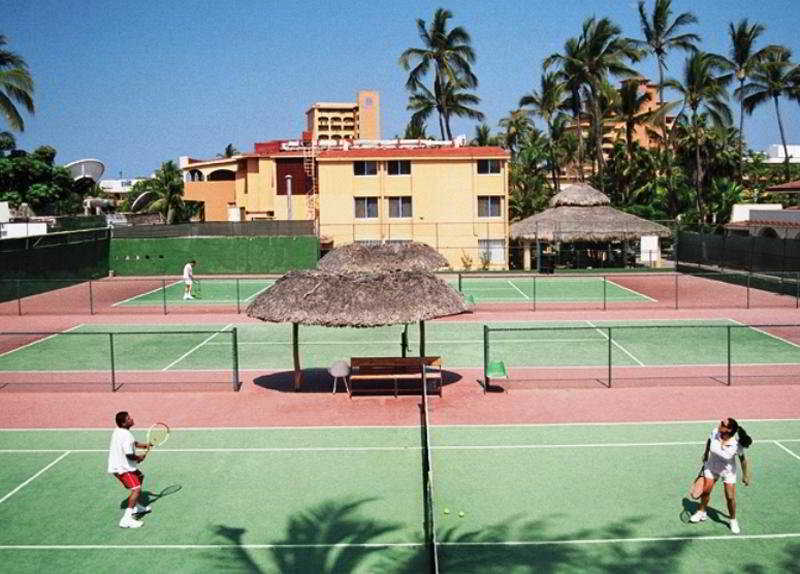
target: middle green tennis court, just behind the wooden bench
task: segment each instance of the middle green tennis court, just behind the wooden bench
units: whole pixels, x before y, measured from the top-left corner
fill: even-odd
[[[492,332],[489,353],[520,367],[800,364],[800,326],[742,327],[733,321],[563,321],[488,323],[493,327],[537,327]],[[659,325],[656,327],[654,325]],[[483,323],[434,322],[426,326],[426,353],[444,367],[483,366]],[[0,355],[2,371],[168,371],[229,369],[234,325],[82,325]],[[608,326],[612,326],[609,345]],[[242,369],[291,369],[291,326],[237,325]],[[183,331],[183,333],[181,332]],[[100,332],[100,333],[98,333]],[[303,368],[328,367],[353,356],[399,356],[402,326],[375,329],[302,327]],[[135,333],[135,334],[134,334]],[[8,335],[0,334],[0,344]],[[409,326],[409,354],[419,352],[416,325]]]

